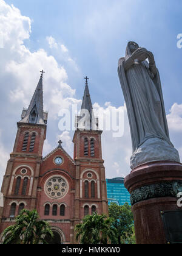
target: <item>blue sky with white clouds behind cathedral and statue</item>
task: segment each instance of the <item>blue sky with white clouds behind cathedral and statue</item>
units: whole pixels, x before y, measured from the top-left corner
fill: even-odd
[[[0,0],[0,29],[5,42],[0,49],[2,175],[13,149],[16,122],[22,107],[30,102],[39,70],[46,71],[44,108],[49,110],[44,153],[55,148],[61,137],[64,148],[72,154],[73,132],[62,134],[58,129],[60,108],[69,108],[73,102],[81,104],[84,77],[88,76],[93,104],[106,111],[111,106],[125,109],[117,65],[130,40],[155,56],[170,137],[181,155],[182,48],[177,48],[177,35],[182,33],[181,12],[180,0]],[[103,134],[107,177],[125,176],[130,171],[126,109],[124,113],[124,136]],[[110,144],[112,150],[108,149]]]

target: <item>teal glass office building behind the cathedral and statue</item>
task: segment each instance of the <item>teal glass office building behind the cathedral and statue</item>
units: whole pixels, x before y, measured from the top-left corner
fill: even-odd
[[[130,205],[130,194],[124,187],[124,178],[106,179],[108,204],[115,202],[123,205],[126,202]]]

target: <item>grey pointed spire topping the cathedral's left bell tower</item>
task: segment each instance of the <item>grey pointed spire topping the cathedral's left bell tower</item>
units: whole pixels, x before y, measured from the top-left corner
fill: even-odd
[[[43,85],[42,77],[44,71],[41,72],[41,77],[39,79],[38,85],[36,87],[35,93],[33,94],[32,101],[30,102],[29,108],[25,111],[24,116],[22,116],[22,123],[32,123],[32,124],[45,124],[44,123],[44,109],[43,109]]]

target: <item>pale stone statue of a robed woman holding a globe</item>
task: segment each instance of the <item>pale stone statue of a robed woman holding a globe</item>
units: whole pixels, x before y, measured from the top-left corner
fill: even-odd
[[[130,167],[160,160],[180,162],[170,142],[160,74],[152,52],[130,41],[126,57],[119,60],[118,75],[132,137]]]

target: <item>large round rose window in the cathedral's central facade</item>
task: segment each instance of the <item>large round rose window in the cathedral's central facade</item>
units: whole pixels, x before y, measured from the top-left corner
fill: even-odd
[[[66,195],[68,183],[62,177],[52,177],[45,182],[45,193],[52,198],[61,198]]]

